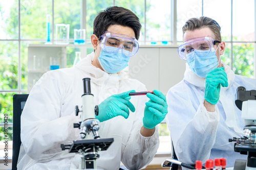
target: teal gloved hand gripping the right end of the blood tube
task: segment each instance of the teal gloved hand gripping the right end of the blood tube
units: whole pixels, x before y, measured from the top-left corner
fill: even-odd
[[[153,129],[163,121],[168,112],[166,98],[158,90],[154,90],[154,94],[147,93],[146,96],[150,100],[146,102],[144,109],[143,126],[147,129]]]

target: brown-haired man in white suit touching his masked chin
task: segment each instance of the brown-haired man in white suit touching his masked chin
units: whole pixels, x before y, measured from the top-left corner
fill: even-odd
[[[221,60],[225,42],[214,19],[190,18],[182,30],[184,43],[178,53],[187,61],[184,78],[166,95],[166,121],[175,152],[184,163],[224,157],[232,167],[236,159],[247,158],[234,152],[234,143],[228,141],[243,134],[244,120],[234,103],[236,90],[256,89],[256,80],[235,75]]]

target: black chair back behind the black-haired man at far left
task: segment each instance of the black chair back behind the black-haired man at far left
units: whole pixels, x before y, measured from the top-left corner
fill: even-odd
[[[29,94],[13,95],[12,170],[17,169],[19,148],[20,144],[22,144],[20,141],[20,116],[22,115],[28,96]]]

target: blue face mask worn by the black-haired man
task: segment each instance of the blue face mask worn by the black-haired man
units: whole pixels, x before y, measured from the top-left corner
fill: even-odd
[[[116,74],[128,66],[130,57],[124,56],[121,49],[117,53],[108,53],[101,48],[98,60],[105,72]]]

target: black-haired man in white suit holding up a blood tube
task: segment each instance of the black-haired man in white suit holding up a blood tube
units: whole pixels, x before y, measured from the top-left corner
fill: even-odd
[[[31,90],[21,119],[18,169],[76,169],[81,155],[61,151],[60,144],[79,138],[73,123],[81,122],[74,108],[82,105],[83,78],[91,79],[91,93],[98,105],[101,138],[114,138],[100,151],[97,168],[139,169],[151,162],[159,146],[157,125],[167,114],[162,92],[146,91],[122,70],[138,51],[139,18],[122,7],[109,7],[94,20],[91,42],[95,50],[72,68],[49,71]],[[149,98],[149,100],[148,100]],[[129,110],[130,109],[130,110]]]

